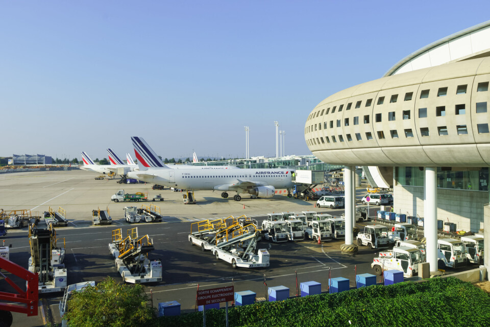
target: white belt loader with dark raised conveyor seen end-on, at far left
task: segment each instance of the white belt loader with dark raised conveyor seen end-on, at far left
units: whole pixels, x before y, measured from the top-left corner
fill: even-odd
[[[61,244],[62,241],[62,244]],[[58,243],[60,245],[58,246]],[[65,239],[56,238],[53,224],[46,229],[29,226],[29,271],[39,274],[39,293],[61,292],[66,288]]]

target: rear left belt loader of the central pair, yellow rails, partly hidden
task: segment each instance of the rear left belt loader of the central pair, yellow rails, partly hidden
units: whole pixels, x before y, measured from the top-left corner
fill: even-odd
[[[227,228],[223,219],[207,219],[190,224],[189,241],[202,251],[211,250],[216,245],[216,234]]]

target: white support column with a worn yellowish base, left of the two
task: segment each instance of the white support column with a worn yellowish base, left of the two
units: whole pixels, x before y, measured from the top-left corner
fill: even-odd
[[[346,244],[340,246],[340,250],[344,253],[356,253],[358,248],[354,244],[354,233],[353,233],[353,220],[354,220],[354,205],[355,197],[353,197],[354,180],[352,172],[355,171],[355,166],[345,166],[344,169],[344,182],[345,182],[345,195],[346,195]]]

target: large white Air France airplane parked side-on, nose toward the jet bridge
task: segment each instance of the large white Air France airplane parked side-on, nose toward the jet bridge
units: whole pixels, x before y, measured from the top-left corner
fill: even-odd
[[[233,197],[235,201],[241,200],[242,193],[248,193],[252,198],[272,198],[276,189],[287,189],[288,197],[291,197],[291,174],[294,170],[207,166],[201,170],[187,167],[174,170],[162,162],[142,137],[133,136],[131,140],[139,171],[128,173],[129,178],[184,190],[223,191],[221,196],[225,199],[228,198],[228,192],[236,192]]]

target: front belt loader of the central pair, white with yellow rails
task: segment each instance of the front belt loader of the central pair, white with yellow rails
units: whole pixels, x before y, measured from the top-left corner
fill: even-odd
[[[280,223],[285,224],[283,221]],[[235,227],[235,225],[230,226],[217,235],[216,245],[211,249],[216,260],[221,259],[231,263],[233,268],[268,267],[269,252],[266,249],[259,249],[255,254],[261,231],[256,229],[254,224]]]

